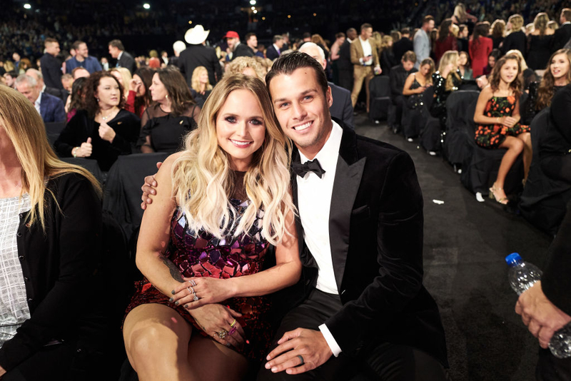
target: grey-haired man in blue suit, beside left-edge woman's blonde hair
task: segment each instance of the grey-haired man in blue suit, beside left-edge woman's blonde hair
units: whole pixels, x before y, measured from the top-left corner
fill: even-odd
[[[19,75],[16,78],[16,89],[34,104],[44,123],[66,121],[64,102],[56,96],[40,93],[38,83],[33,77]]]

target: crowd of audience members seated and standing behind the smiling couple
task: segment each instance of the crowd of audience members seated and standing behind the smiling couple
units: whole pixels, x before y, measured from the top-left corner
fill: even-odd
[[[373,6],[370,3],[373,1],[355,9]],[[355,127],[355,115],[372,111],[375,94],[371,83],[375,78],[388,77],[388,127],[410,142],[418,141],[426,121],[432,118],[436,132],[435,148],[427,149],[430,155],[443,154],[450,96],[463,89],[479,91],[475,111],[469,116],[475,123],[473,142],[490,151],[505,149],[489,188],[490,198],[502,205],[514,199],[505,191],[505,183],[521,157],[522,178],[517,181],[524,189],[530,189],[530,182],[537,183],[537,176],[543,176],[560,184],[569,201],[571,9],[554,9],[559,4],[554,0],[515,1],[507,9],[500,1],[422,3],[417,24],[377,31],[381,26],[375,24],[375,17],[360,24],[349,19],[350,13],[343,17],[353,27],[327,36],[299,30],[261,36],[255,28],[244,34],[232,30],[238,29],[232,24],[228,24],[229,30],[221,31],[220,23],[214,26],[214,21],[208,29],[205,18],[203,24],[193,24],[186,31],[184,41],[169,41],[171,49],[151,49],[142,55],[130,51],[130,46],[117,37],[175,34],[174,23],[160,20],[180,5],[169,4],[153,23],[133,11],[125,11],[122,19],[105,22],[101,11],[90,18],[93,24],[82,25],[70,20],[76,16],[73,11],[50,15],[47,21],[32,16],[27,21],[0,19],[0,85],[23,94],[46,126],[64,125],[53,144],[59,158],[89,158],[96,161],[100,171],[108,173],[120,156],[172,154],[185,144],[191,145],[198,139],[197,133],[188,133],[214,113],[213,101],[208,99],[212,93],[222,92],[217,90],[217,83],[229,86],[228,78],[244,75],[258,78],[261,82],[254,84],[261,86],[276,59],[298,51],[318,61],[315,70],[321,67],[325,71],[330,88],[326,93],[333,94],[328,104],[330,114],[347,128]],[[208,7],[206,1],[201,4]],[[403,16],[402,9],[397,11],[398,7],[390,3],[378,6],[395,17]],[[121,14],[121,9],[116,14]],[[258,22],[261,20],[253,17],[249,24]],[[282,28],[287,30],[291,25],[284,23]],[[31,30],[36,33],[29,33]],[[102,45],[101,39],[106,44]],[[238,88],[247,87],[250,80],[240,78],[243,83]],[[261,89],[265,91],[263,86]],[[225,97],[230,98],[230,92],[226,91]],[[10,98],[6,94],[0,91],[1,97]],[[267,98],[266,93],[253,95]],[[560,107],[550,109],[555,103]],[[535,145],[532,126],[544,110],[549,112],[550,121],[544,126],[542,144]],[[38,122],[36,116],[27,118]],[[187,136],[191,138],[185,141]],[[50,164],[44,188],[61,182],[72,187],[78,182],[84,186],[95,183],[82,169],[51,158],[51,151],[46,155]],[[536,167],[541,168],[540,174],[534,169],[534,160],[539,161]],[[459,173],[464,169],[463,163],[453,164]],[[223,167],[218,162],[216,165]],[[56,181],[58,173],[66,176]],[[85,176],[87,181],[78,181],[71,173]],[[284,176],[287,178],[287,173]],[[91,195],[94,199],[100,191],[97,186],[95,190]],[[32,205],[37,204],[36,196]],[[91,198],[84,200],[86,205],[93,203]],[[555,217],[557,225],[563,214]],[[43,219],[40,216],[41,223]],[[99,232],[101,221],[96,223]],[[91,240],[91,235],[88,238]],[[232,328],[229,325],[226,333]],[[218,336],[223,339],[224,335]],[[303,358],[301,361],[303,365]]]

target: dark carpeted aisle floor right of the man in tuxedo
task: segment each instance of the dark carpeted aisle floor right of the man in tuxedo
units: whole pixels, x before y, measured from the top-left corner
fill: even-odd
[[[451,379],[535,380],[539,346],[514,312],[504,258],[517,252],[542,267],[551,238],[494,200],[477,202],[450,165],[418,142],[363,113],[355,124],[360,135],[393,144],[415,162],[425,200],[424,283],[440,307]]]

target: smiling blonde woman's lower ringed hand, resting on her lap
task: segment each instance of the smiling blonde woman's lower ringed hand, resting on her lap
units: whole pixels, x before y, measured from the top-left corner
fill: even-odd
[[[241,313],[219,304],[204,305],[188,313],[194,317],[196,323],[207,335],[222,345],[233,345],[236,348],[244,345],[246,334],[240,323],[236,321],[236,317],[242,316]],[[226,331],[226,335],[221,338],[218,332],[223,331]]]

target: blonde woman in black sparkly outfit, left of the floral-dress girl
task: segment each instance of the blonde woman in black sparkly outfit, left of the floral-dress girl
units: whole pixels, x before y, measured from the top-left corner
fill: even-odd
[[[438,71],[433,73],[434,101],[430,114],[440,119],[440,127],[446,126],[446,99],[462,84],[458,71],[458,51],[446,51],[440,59]]]

